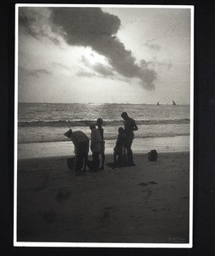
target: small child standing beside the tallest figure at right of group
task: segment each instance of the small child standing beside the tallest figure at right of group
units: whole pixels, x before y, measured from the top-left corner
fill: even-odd
[[[125,130],[123,127],[119,127],[118,132],[119,134],[117,137],[116,145],[113,148],[113,168],[121,166],[122,154],[125,153]]]

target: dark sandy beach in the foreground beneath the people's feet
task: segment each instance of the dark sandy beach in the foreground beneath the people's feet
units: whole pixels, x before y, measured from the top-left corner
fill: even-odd
[[[189,152],[134,160],[75,177],[65,156],[18,160],[17,241],[188,243]]]

